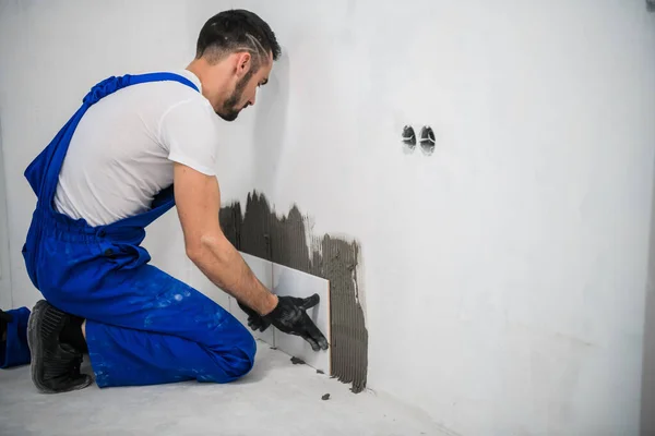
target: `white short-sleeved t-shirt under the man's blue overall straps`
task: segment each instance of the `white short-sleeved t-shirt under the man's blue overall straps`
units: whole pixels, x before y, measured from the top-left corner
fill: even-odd
[[[190,71],[172,73],[201,89]],[[215,175],[218,120],[201,93],[179,82],[142,83],[103,98],[71,138],[56,209],[91,226],[108,225],[148,210],[172,183],[174,162]]]

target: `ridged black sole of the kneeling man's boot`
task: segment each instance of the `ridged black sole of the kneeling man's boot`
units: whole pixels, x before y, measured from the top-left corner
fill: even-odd
[[[27,320],[27,346],[29,347],[29,354],[32,356],[32,362],[29,364],[31,373],[32,373],[32,383],[36,386],[41,393],[60,393],[60,392],[70,392],[72,390],[84,389],[88,385],[91,385],[92,379],[88,375],[84,375],[84,378],[81,378],[81,382],[78,384],[73,384],[64,389],[55,390],[43,384],[44,379],[44,347],[43,340],[39,336],[43,316],[40,316],[41,312],[48,308],[50,304],[41,300],[34,306],[32,314],[29,314],[29,319]]]

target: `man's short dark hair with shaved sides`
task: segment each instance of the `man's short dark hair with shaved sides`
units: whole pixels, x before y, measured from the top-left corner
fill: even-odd
[[[237,51],[249,51],[257,70],[262,58],[273,53],[276,61],[282,49],[269,24],[250,11],[224,11],[207,20],[198,37],[195,58],[217,62]]]

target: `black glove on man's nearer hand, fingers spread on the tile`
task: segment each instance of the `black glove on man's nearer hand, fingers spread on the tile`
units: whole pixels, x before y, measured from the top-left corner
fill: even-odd
[[[307,310],[321,301],[318,293],[306,299],[278,296],[278,303],[269,315],[262,318],[273,324],[279,331],[300,336],[309,342],[313,351],[327,350],[327,339],[307,315]]]

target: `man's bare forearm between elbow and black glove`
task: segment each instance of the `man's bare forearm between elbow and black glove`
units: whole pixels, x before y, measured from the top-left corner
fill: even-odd
[[[198,252],[190,257],[214,284],[259,314],[269,314],[277,304],[277,296],[262,284],[223,234],[202,238]]]

